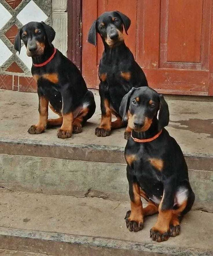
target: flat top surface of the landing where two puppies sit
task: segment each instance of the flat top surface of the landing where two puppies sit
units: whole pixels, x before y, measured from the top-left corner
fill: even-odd
[[[57,128],[46,130],[40,135],[30,135],[27,130],[37,122],[37,94],[0,90],[0,130],[2,138],[30,139],[50,143],[96,144],[119,146],[124,148],[124,129],[115,130],[111,136],[100,138],[94,135],[94,129],[101,119],[98,91],[93,91],[96,112],[83,129],[83,133],[74,134],[69,139],[58,139]],[[167,99],[167,98],[166,98]],[[185,155],[213,156],[213,102],[181,99],[167,99],[170,122],[167,127],[170,135],[175,137]],[[50,110],[49,117],[56,115]]]

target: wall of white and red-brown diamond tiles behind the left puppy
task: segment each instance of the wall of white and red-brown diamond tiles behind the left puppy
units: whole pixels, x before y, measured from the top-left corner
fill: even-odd
[[[36,92],[31,76],[32,60],[22,46],[14,50],[14,37],[28,22],[51,23],[51,0],[0,0],[0,89]]]

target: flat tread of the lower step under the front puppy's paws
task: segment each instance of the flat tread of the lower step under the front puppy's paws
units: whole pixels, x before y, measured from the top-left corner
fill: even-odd
[[[127,230],[124,217],[130,207],[128,202],[1,189],[0,204],[0,236],[7,229],[17,229],[30,231],[31,235],[33,231],[43,231],[108,239],[105,246],[106,241],[111,240],[123,241],[123,246],[129,242],[142,243],[156,252],[162,252],[162,245],[167,250],[192,248],[213,252],[213,214],[200,210],[192,210],[184,217],[180,236],[157,243],[149,238],[149,230],[157,221],[156,215],[145,220],[143,230]]]

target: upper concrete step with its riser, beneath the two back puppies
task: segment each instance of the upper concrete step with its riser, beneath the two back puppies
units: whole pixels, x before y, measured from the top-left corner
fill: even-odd
[[[72,196],[102,197],[128,201],[124,159],[124,129],[99,138],[94,129],[100,121],[100,102],[83,133],[62,140],[57,129],[30,135],[36,123],[37,95],[0,90],[0,186],[11,190]],[[196,194],[196,208],[212,211],[213,102],[167,99],[169,133],[184,152]],[[50,111],[50,118],[55,115]]]

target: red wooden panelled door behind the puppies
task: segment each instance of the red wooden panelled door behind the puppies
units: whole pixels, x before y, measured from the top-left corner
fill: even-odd
[[[131,19],[126,45],[149,86],[161,93],[213,95],[213,5],[211,0],[83,0],[82,72],[98,88],[102,40],[87,42],[88,30],[105,11]]]

